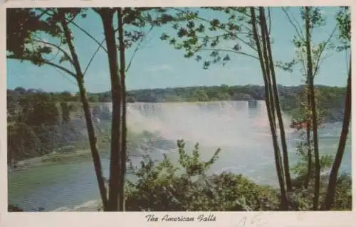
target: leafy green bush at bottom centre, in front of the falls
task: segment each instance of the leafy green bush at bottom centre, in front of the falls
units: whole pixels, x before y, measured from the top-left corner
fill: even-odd
[[[206,175],[220,150],[207,162],[199,160],[199,144],[192,155],[178,143],[179,162],[164,160],[155,165],[147,157],[136,170],[136,182],[126,189],[127,211],[263,211],[278,210],[276,189],[258,186],[251,180],[223,172]]]

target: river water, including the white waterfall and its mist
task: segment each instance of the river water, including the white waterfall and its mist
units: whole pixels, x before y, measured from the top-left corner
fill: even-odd
[[[241,173],[259,184],[277,185],[271,133],[268,128],[264,101],[130,104],[128,126],[137,132],[152,131],[166,140],[187,140],[188,150],[199,142],[201,158],[209,159],[221,148],[219,160],[210,173],[229,171]],[[290,119],[283,116],[290,164],[298,162],[296,145],[299,135],[288,128]],[[342,123],[326,123],[319,131],[320,153],[335,155]],[[340,172],[351,172],[351,136],[347,140]],[[174,150],[157,149],[154,158],[162,153],[177,160]],[[103,172],[108,176],[109,153],[102,153]],[[139,157],[132,157],[134,163]],[[128,174],[127,178],[132,175]],[[9,172],[9,204],[25,211],[44,208],[60,211],[90,207],[93,210],[99,198],[98,185],[91,157],[70,162],[37,165]]]

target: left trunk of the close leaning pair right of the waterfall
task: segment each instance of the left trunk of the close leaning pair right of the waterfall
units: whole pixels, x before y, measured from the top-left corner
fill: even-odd
[[[270,92],[271,91],[268,89],[268,87],[269,87],[268,84],[270,82],[268,81],[268,77],[266,77],[266,74],[267,74],[266,70],[268,70],[268,67],[267,67],[268,65],[265,65],[265,62],[263,60],[261,45],[260,45],[260,41],[258,38],[258,31],[257,31],[257,27],[256,27],[256,14],[255,14],[253,7],[251,7],[250,10],[251,10],[251,19],[252,19],[253,38],[256,41],[258,57],[260,59],[261,70],[262,70],[262,74],[263,74],[263,81],[265,84],[264,87],[265,87],[265,93],[266,93],[265,96],[266,96],[268,120],[270,123],[272,140],[273,140],[273,149],[274,149],[274,156],[275,156],[275,161],[276,161],[277,177],[278,177],[279,186],[281,188],[281,205],[282,205],[283,210],[287,210],[288,202],[287,202],[286,188],[284,185],[284,179],[283,179],[283,174],[282,174],[281,154],[280,154],[279,145],[278,145],[276,128],[273,125],[273,116],[271,113],[271,100],[270,100]]]

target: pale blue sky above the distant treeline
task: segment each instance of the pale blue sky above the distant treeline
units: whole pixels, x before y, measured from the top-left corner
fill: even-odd
[[[298,9],[292,9],[299,17]],[[315,43],[328,38],[328,34],[335,27],[335,13],[337,8],[324,7],[323,14],[327,18],[327,25],[313,33]],[[214,17],[214,12],[205,13],[206,17]],[[291,60],[294,47],[290,40],[295,30],[288,22],[285,14],[279,8],[273,8],[271,38],[273,38],[274,60]],[[100,18],[93,13],[77,21],[98,40],[103,39],[103,28]],[[127,72],[127,89],[151,89],[164,87],[188,87],[199,85],[245,85],[263,84],[261,68],[258,60],[241,55],[231,55],[231,62],[227,65],[214,65],[209,70],[203,70],[202,63],[192,59],[185,59],[182,50],[174,50],[172,46],[159,39],[163,32],[170,32],[167,26],[155,28],[147,37],[144,45],[137,51],[129,72]],[[73,28],[75,48],[83,68],[87,64],[97,45],[87,36]],[[226,43],[231,45],[231,43]],[[208,53],[209,54],[209,53]],[[110,89],[108,59],[105,52],[96,55],[93,64],[85,74],[85,85],[88,92],[105,92]],[[130,60],[132,50],[127,51]],[[61,74],[53,67],[36,67],[29,62],[7,60],[7,87],[14,89],[43,89],[48,92],[78,92],[73,84],[74,79]],[[330,86],[345,86],[347,82],[347,62],[345,52],[335,52],[329,57],[315,77],[316,84]],[[302,76],[298,70],[292,73],[277,70],[278,84],[298,85],[302,83]]]

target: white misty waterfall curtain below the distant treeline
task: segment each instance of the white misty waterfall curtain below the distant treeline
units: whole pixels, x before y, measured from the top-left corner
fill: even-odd
[[[284,116],[285,124],[289,118]],[[132,131],[155,131],[168,140],[243,148],[271,141],[264,101],[135,103],[127,107]]]

